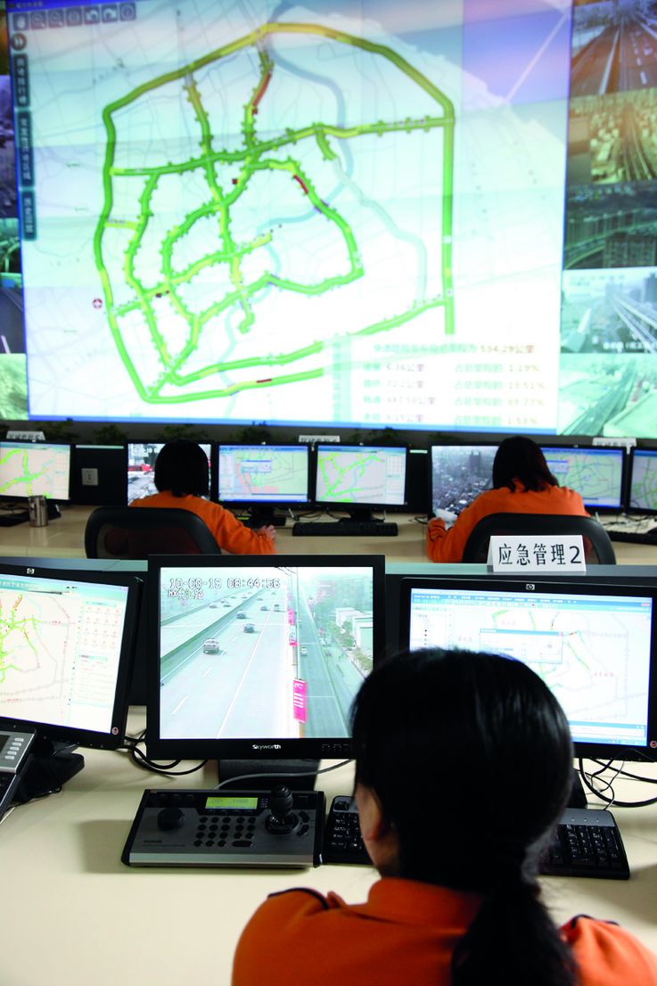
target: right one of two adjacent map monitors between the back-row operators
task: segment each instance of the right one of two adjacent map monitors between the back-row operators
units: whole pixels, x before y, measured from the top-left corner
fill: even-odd
[[[374,509],[406,503],[407,449],[402,446],[318,445],[315,503],[370,521]]]

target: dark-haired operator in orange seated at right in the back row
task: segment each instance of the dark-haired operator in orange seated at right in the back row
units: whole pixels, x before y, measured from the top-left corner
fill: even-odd
[[[491,490],[485,490],[458,516],[437,511],[426,531],[431,561],[461,561],[466,542],[489,514],[568,514],[589,517],[579,493],[559,486],[540,446],[531,438],[505,438],[495,453]],[[454,525],[454,527],[452,527]]]

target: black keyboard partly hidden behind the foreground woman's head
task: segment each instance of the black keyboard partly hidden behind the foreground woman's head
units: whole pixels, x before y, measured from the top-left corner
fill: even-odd
[[[356,801],[333,798],[325,829],[323,863],[371,866],[360,835]],[[628,880],[629,866],[611,811],[566,809],[541,866],[546,877],[597,877]]]

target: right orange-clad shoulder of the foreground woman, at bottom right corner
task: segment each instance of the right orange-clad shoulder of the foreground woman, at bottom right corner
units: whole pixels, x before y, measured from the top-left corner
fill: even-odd
[[[620,925],[578,915],[561,933],[573,951],[581,986],[622,981],[657,986],[657,956]]]

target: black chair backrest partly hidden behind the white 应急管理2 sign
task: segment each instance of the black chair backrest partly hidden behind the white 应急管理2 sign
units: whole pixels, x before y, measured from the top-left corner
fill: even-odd
[[[592,517],[566,514],[489,514],[474,527],[463,551],[463,561],[484,562],[493,534],[581,534],[588,565],[616,565],[610,536]]]

